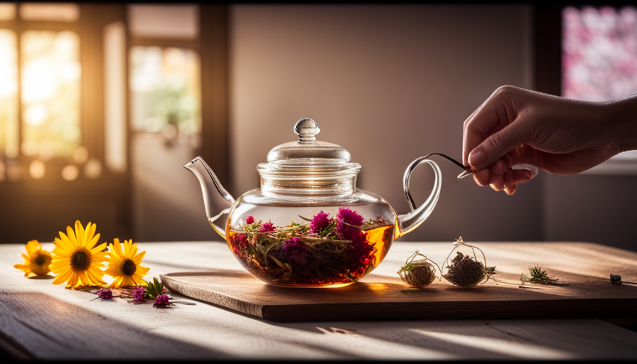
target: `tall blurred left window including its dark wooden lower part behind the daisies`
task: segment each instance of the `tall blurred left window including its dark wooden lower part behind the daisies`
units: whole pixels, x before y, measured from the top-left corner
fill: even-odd
[[[106,44],[125,41],[125,15],[123,4],[0,3],[0,220],[13,227],[1,242],[50,241],[75,220],[99,223],[105,240],[131,235],[126,48],[114,65]],[[107,92],[110,71],[124,81]],[[115,164],[106,134],[122,149]]]

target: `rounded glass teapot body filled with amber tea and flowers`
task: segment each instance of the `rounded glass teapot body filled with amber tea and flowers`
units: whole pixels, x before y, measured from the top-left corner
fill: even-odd
[[[387,201],[366,191],[277,196],[255,189],[235,201],[225,237],[240,264],[263,282],[343,287],[382,262],[395,225]]]

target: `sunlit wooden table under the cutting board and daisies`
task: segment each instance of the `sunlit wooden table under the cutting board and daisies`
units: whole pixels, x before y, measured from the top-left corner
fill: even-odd
[[[414,250],[441,244],[395,242],[373,277],[395,280],[397,269]],[[450,243],[444,244],[451,250]],[[505,255],[494,253],[498,245],[515,244],[476,243],[491,259],[489,263],[498,267],[506,267]],[[557,242],[537,246],[542,244],[572,247]],[[150,277],[210,268],[243,272],[223,242],[139,243],[139,247],[146,250],[143,265],[151,268]],[[51,250],[53,245],[43,244],[43,248]],[[23,251],[22,245],[0,246],[0,345],[20,358],[637,359],[637,332],[599,319],[279,323],[179,294],[173,294],[175,300],[193,305],[154,309],[151,304],[124,299],[95,300],[94,294],[53,286],[52,279],[23,278],[13,267],[21,263]],[[636,253],[613,252],[637,267],[637,262],[630,263]],[[430,257],[437,262],[445,258]],[[529,264],[548,264],[542,259],[559,261],[560,257],[537,259],[529,252]],[[576,266],[577,262],[563,264],[564,269]],[[370,277],[362,282],[374,279]]]

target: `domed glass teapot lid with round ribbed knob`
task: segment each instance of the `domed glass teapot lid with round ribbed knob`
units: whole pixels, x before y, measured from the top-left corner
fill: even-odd
[[[317,141],[316,134],[319,132],[321,128],[314,120],[299,120],[294,125],[294,133],[299,135],[299,140],[275,146],[267,154],[267,161],[302,163],[307,160],[320,164],[343,164],[351,161],[352,155],[342,146]]]

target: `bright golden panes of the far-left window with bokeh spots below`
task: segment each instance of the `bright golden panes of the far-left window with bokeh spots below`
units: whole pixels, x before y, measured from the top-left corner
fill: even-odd
[[[0,181],[98,178],[82,121],[77,4],[0,4]]]

